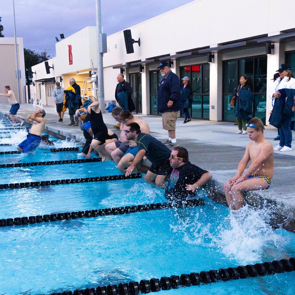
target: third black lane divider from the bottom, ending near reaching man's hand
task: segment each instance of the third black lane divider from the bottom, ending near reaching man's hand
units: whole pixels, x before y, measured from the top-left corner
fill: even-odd
[[[84,183],[84,182],[98,182],[98,181],[110,181],[110,180],[123,180],[123,179],[135,179],[141,178],[140,173],[133,173],[129,176],[124,174],[120,175],[110,175],[110,176],[97,176],[97,177],[85,177],[85,178],[71,178],[71,179],[61,179],[61,180],[44,180],[44,181],[31,181],[31,182],[21,182],[21,183],[5,183],[0,184],[0,190],[3,189],[21,189],[24,187],[38,187],[46,185],[64,185],[70,183]]]

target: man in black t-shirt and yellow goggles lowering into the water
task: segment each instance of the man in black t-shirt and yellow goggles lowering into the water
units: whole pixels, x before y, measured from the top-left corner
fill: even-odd
[[[212,178],[212,174],[189,162],[184,147],[176,147],[171,152],[170,165],[173,168],[165,197],[170,200],[185,200],[194,196],[196,189]]]

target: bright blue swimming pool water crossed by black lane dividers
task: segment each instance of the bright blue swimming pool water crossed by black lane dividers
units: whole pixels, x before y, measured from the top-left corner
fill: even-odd
[[[171,204],[52,136],[34,154],[1,153],[27,133],[0,129],[0,294],[294,293],[295,235],[272,229],[272,212],[229,212],[202,189]]]

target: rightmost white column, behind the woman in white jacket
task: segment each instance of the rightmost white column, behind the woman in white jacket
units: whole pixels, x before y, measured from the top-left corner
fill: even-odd
[[[274,93],[273,75],[282,63],[285,63],[285,44],[275,43],[272,54],[267,56],[267,86],[266,86],[266,125],[272,110],[272,94]]]

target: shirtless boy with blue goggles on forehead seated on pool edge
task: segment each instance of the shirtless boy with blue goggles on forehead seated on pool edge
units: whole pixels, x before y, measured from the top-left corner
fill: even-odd
[[[252,118],[246,127],[253,142],[248,143],[236,175],[224,184],[226,200],[231,210],[244,206],[242,192],[269,188],[274,173],[273,146],[264,138],[265,128],[262,121]],[[249,161],[251,164],[244,172]]]

